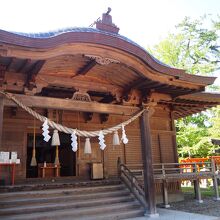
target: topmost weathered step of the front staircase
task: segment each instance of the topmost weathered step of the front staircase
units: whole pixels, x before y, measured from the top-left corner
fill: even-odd
[[[76,195],[87,194],[91,192],[106,192],[124,189],[123,184],[107,185],[107,186],[92,186],[92,187],[78,187],[78,188],[58,188],[58,189],[44,189],[35,191],[22,192],[6,192],[0,194],[0,200],[13,198],[33,198],[33,197],[55,197],[59,195]]]

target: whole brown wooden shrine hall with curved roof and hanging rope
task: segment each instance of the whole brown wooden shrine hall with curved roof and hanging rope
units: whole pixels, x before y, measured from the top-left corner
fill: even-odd
[[[220,94],[204,92],[215,78],[161,63],[120,35],[109,11],[95,25],[0,30],[0,151],[20,159],[15,184],[89,180],[97,170],[106,180],[117,178],[118,158],[143,164],[147,211],[156,214],[162,191],[153,164],[178,162],[175,119],[220,104]],[[168,191],[182,198],[179,181]]]

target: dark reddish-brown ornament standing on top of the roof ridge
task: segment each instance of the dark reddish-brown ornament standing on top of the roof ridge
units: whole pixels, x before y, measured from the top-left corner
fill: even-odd
[[[108,11],[102,14],[102,19],[97,19],[95,22],[96,28],[102,31],[118,34],[119,28],[112,23],[112,16],[110,15],[110,12],[111,8],[108,7]]]

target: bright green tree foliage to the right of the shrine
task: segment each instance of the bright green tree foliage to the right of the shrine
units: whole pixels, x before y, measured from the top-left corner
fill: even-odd
[[[208,25],[207,25],[208,24]],[[206,27],[205,27],[206,26]],[[150,52],[162,62],[188,73],[211,76],[220,69],[220,17],[192,20],[186,17]],[[220,91],[213,86],[212,90]],[[220,107],[182,118],[176,122],[177,145],[182,157],[213,154],[212,138],[220,138]]]

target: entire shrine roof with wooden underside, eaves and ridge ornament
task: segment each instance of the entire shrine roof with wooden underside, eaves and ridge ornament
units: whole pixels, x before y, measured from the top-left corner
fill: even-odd
[[[97,21],[96,28],[66,28],[47,33],[0,30],[0,71],[6,78],[7,74],[18,74],[18,82],[10,81],[8,90],[22,93],[21,85],[29,84],[28,89],[33,89],[39,83],[46,93],[62,88],[71,95],[80,83],[88,88],[95,79],[91,94],[128,95],[132,89],[145,95],[167,94],[172,101],[160,103],[172,105],[175,118],[220,104],[219,94],[200,93],[216,77],[191,75],[170,67],[118,31],[108,12]],[[102,57],[105,55],[109,57]],[[99,63],[100,58],[108,65]],[[57,70],[61,74],[56,74]],[[0,75],[0,86],[7,84],[4,74]],[[102,100],[107,99],[106,95]]]

